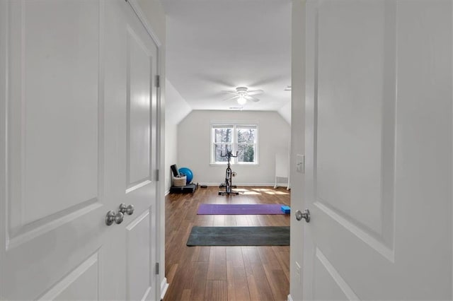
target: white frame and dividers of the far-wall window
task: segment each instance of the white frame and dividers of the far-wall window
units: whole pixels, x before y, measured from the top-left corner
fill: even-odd
[[[237,158],[231,158],[230,163],[232,165],[249,165],[249,166],[256,166],[258,165],[258,135],[259,135],[259,129],[258,129],[258,123],[256,124],[251,124],[251,123],[231,123],[231,122],[221,122],[221,123],[212,123],[210,125],[210,131],[211,131],[211,165],[226,165],[227,162],[216,162],[215,161],[215,135],[214,135],[214,129],[219,129],[219,128],[231,128],[232,129],[232,139],[231,139],[231,146],[232,146],[232,153],[233,155],[236,155],[236,151],[238,151],[238,146],[241,143],[238,143],[238,135],[237,135],[237,129],[247,129],[247,128],[252,128],[255,129],[256,131],[256,137],[255,137],[255,148],[254,148],[254,162],[239,162]],[[218,144],[218,143],[217,143]],[[230,144],[230,143],[225,143],[225,144]]]

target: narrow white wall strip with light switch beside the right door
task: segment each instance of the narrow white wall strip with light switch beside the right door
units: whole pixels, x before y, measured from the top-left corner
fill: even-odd
[[[292,2],[292,91],[291,91],[291,208],[292,212],[304,210],[304,175],[296,172],[296,155],[305,153],[305,0]],[[294,216],[294,215],[292,215]],[[302,300],[303,224],[291,218],[291,254],[289,259],[289,294],[292,300]],[[302,267],[303,268],[303,267]]]

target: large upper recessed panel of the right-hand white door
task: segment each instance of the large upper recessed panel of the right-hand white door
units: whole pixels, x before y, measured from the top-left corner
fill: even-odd
[[[325,6],[319,13],[317,37],[317,93],[323,101],[317,107],[316,199],[380,234],[381,171],[386,163],[381,145],[392,138],[382,131],[384,78],[395,74],[394,66],[389,72],[383,68],[382,49],[391,35],[384,31],[386,10],[382,1]],[[350,13],[351,8],[360,14]],[[355,39],[360,47],[351,47]],[[353,73],[348,72],[350,66],[355,67]],[[392,92],[386,96],[391,95],[394,104]]]

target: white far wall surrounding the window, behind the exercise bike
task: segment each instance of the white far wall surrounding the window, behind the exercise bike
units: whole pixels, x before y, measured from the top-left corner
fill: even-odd
[[[275,152],[289,147],[289,124],[277,112],[200,111],[190,112],[178,126],[178,167],[193,171],[193,182],[218,185],[224,182],[225,165],[210,165],[210,124],[237,121],[258,124],[258,166],[234,165],[233,184],[273,185]]]

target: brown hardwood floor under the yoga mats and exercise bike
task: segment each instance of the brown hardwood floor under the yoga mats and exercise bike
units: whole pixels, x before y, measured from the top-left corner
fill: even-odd
[[[280,203],[289,191],[238,187],[239,196],[219,196],[219,187],[166,196],[166,278],[164,300],[287,300],[289,246],[187,247],[200,226],[289,226],[289,215],[197,216],[200,203]]]

